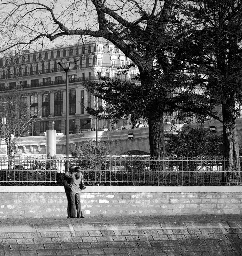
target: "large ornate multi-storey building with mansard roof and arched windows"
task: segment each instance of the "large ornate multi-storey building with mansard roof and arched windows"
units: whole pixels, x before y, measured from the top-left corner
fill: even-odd
[[[130,80],[137,68],[119,74],[130,60],[107,41],[90,41],[84,45],[60,46],[42,51],[23,51],[0,58],[0,101],[11,90],[19,90],[29,107],[31,125],[28,134],[42,135],[52,127],[57,133],[66,130],[66,73],[58,62],[77,62],[69,72],[69,133],[95,128],[96,119],[85,107],[94,107],[95,99],[82,85],[100,76]],[[98,120],[98,128],[111,129],[111,120]],[[51,128],[52,129],[52,128]]]

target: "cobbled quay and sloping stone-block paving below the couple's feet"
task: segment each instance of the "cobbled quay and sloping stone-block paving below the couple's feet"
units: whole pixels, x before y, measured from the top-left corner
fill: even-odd
[[[241,217],[0,219],[0,256],[242,256]]]

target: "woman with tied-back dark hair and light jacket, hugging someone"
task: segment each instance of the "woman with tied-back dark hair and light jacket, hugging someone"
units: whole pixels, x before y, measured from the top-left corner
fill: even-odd
[[[66,171],[65,176],[71,179],[71,218],[84,218],[81,209],[80,184],[83,182],[83,175],[80,167],[76,166],[74,172]]]

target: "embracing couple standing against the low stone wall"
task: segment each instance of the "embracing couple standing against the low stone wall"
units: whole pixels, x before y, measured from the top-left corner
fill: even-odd
[[[83,174],[80,167],[71,166],[65,173],[64,187],[67,196],[67,218],[85,218],[81,208]]]

